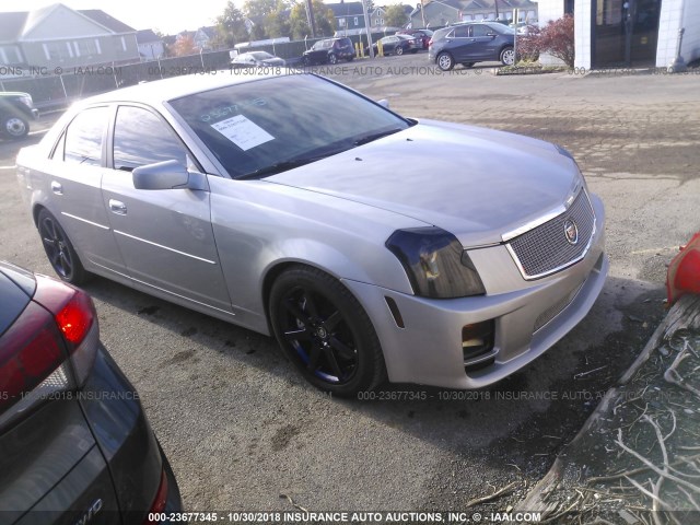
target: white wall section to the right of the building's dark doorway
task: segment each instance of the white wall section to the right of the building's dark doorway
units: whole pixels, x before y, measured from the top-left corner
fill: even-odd
[[[656,67],[666,68],[676,59],[678,30],[684,27],[680,55],[686,62],[700,58],[700,2],[663,0],[658,22]]]

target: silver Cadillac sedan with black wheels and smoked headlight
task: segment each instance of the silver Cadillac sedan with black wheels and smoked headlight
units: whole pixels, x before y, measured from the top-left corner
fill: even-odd
[[[571,330],[608,271],[603,203],[565,150],[314,74],[85,100],[18,176],[63,280],[273,335],[336,395],[490,385]]]

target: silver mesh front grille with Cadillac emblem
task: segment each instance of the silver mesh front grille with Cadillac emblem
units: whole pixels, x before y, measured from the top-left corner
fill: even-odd
[[[539,279],[583,259],[595,233],[585,190],[563,213],[511,240],[506,246],[525,279]]]

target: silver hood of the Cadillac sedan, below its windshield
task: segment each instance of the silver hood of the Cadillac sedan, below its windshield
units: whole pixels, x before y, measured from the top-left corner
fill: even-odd
[[[453,233],[468,247],[499,243],[503,234],[551,212],[578,179],[573,160],[548,142],[421,120],[265,180],[410,217]]]

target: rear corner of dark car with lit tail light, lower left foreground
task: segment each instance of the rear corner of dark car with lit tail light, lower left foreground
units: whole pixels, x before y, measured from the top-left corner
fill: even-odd
[[[44,242],[74,256],[59,237]],[[159,523],[182,510],[139,395],[100,342],[90,296],[7,262],[0,451],[3,525]]]

